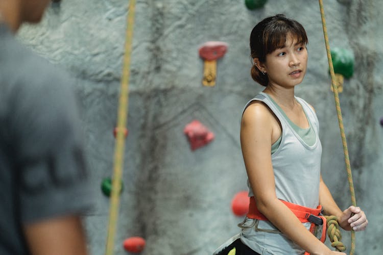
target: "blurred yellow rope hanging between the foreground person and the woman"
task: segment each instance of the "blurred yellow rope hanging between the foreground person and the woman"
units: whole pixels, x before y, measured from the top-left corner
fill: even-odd
[[[124,148],[125,148],[124,130],[127,125],[127,116],[128,116],[130,57],[132,52],[135,4],[136,4],[135,0],[129,1],[129,12],[127,15],[127,32],[126,32],[126,38],[125,38],[125,55],[124,55],[124,62],[123,62],[121,91],[119,94],[119,104],[118,104],[118,114],[117,114],[117,135],[116,135],[116,143],[114,147],[114,167],[113,167],[112,190],[111,190],[111,196],[110,196],[108,237],[107,237],[106,250],[105,250],[106,255],[113,254],[114,236],[116,232],[116,223],[118,218],[119,190],[121,186],[123,163],[124,163]]]

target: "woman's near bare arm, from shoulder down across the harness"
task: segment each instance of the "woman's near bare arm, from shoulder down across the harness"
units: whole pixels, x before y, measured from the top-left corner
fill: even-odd
[[[258,102],[245,110],[241,123],[242,153],[257,208],[281,232],[311,254],[340,254],[331,251],[307,231],[293,212],[276,197],[271,162],[275,122],[269,108]]]

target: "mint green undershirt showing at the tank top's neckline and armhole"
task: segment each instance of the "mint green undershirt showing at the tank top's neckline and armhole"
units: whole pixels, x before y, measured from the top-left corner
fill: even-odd
[[[313,146],[317,140],[313,126],[311,125],[306,112],[303,110],[304,115],[306,116],[306,119],[308,121],[309,127],[307,129],[302,129],[301,127],[297,126],[293,121],[289,119],[289,117],[284,113],[282,108],[278,106],[278,104],[274,101],[271,96],[268,95],[272,103],[278,108],[278,110],[282,113],[282,115],[285,117],[286,120],[288,120],[291,127],[293,127],[293,130],[298,134],[298,136],[308,145]],[[299,102],[298,102],[299,103]],[[301,105],[302,106],[302,105]],[[303,109],[303,106],[302,106]],[[273,154],[279,147],[279,144],[282,140],[282,135],[279,136],[278,140],[271,145],[271,154]]]

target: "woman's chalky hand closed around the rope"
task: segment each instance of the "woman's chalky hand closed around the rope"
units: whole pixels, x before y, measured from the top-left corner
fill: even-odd
[[[354,214],[353,216],[351,216]],[[364,231],[368,225],[366,214],[358,207],[350,206],[338,218],[339,225],[344,230]]]

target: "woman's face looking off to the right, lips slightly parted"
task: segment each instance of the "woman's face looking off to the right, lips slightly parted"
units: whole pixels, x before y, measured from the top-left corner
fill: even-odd
[[[266,55],[264,66],[269,77],[269,85],[294,87],[303,81],[306,74],[306,45],[288,35],[283,48]]]

